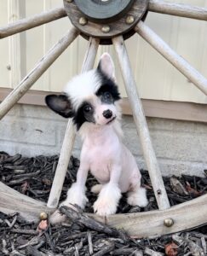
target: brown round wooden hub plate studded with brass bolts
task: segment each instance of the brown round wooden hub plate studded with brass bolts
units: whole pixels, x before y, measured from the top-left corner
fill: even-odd
[[[81,17],[83,17],[83,14],[79,11],[75,1],[69,3],[68,1],[64,0],[64,6],[73,26],[78,28],[84,38],[101,38],[101,44],[102,42],[104,42],[103,44],[112,44],[112,37],[120,34],[127,34],[129,31],[132,31],[129,33],[129,36],[134,33],[133,28],[135,27],[135,24],[141,20],[147,11],[148,0],[135,0],[127,15],[121,16],[119,20],[105,21],[101,23],[95,23],[92,20],[88,20],[88,22],[86,22],[84,25],[79,23],[79,20]],[[126,17],[129,15],[134,17],[134,21],[131,23],[126,22]],[[103,32],[103,26],[109,26],[109,31]]]

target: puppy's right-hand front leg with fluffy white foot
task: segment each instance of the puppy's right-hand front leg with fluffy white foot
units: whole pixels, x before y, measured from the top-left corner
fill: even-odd
[[[121,198],[121,190],[118,188],[118,181],[121,175],[121,167],[113,166],[110,173],[110,181],[106,183],[94,204],[94,211],[98,215],[106,216],[116,213],[118,201]]]

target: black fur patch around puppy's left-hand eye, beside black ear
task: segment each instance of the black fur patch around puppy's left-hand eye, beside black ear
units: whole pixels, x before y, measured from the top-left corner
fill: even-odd
[[[83,102],[78,108],[77,113],[74,114],[73,122],[76,125],[77,130],[80,129],[84,122],[95,124],[94,107],[89,102]]]

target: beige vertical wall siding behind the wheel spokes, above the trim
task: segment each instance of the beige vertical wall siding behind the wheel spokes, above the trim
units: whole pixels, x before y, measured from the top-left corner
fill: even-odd
[[[207,7],[207,0],[177,0],[171,2],[188,3]],[[62,0],[1,0],[0,26],[23,17],[53,9],[62,4]],[[165,42],[196,67],[207,78],[207,22],[149,13],[147,25],[157,32]],[[21,32],[0,41],[0,86],[14,88],[47,53],[64,33],[71,27],[68,18],[56,20],[27,32]],[[126,41],[129,49],[131,66],[142,98],[207,102],[204,96],[192,83],[172,67],[138,35]],[[79,73],[87,41],[78,38],[41,79],[33,85],[35,90],[60,91],[74,74]],[[112,46],[102,46],[102,52],[109,51],[114,55]],[[116,61],[115,55],[114,60]],[[8,67],[11,67],[11,70]],[[118,67],[118,65],[117,65]],[[117,68],[118,84],[125,95],[121,74]]]

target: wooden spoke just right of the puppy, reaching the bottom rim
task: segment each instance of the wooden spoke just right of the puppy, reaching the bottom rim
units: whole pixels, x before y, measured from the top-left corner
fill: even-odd
[[[152,181],[152,187],[158,202],[158,207],[160,210],[164,210],[170,207],[170,203],[164,188],[164,182],[158,167],[158,161],[152,148],[147,121],[141,106],[141,99],[136,90],[135,79],[130,68],[129,56],[124,45],[124,39],[120,36],[113,38],[112,42],[117,52],[119,66],[124,78],[125,89],[132,108],[136,130],[141,139],[141,147],[147,163],[147,169]]]

